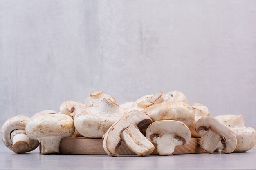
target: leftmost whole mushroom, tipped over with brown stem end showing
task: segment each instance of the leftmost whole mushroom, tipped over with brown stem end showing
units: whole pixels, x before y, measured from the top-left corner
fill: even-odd
[[[2,140],[4,145],[15,153],[25,153],[36,149],[37,140],[30,139],[25,131],[29,117],[14,116],[4,122],[2,126]]]

